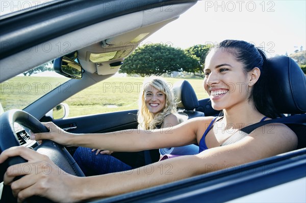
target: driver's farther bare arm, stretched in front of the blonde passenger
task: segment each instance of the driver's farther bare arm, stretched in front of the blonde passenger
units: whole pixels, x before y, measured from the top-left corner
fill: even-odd
[[[64,146],[79,146],[115,152],[184,146],[196,143],[198,122],[206,118],[188,120],[180,125],[156,130],[130,129],[101,134],[67,133],[53,123],[45,124],[50,132],[31,134],[31,139],[50,139]]]

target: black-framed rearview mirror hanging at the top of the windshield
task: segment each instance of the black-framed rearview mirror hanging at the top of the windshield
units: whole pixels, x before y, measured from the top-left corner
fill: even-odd
[[[55,59],[53,69],[55,72],[73,79],[81,79],[83,75],[81,64],[69,59],[67,56]]]

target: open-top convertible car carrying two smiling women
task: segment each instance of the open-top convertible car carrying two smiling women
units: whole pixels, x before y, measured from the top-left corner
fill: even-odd
[[[19,145],[33,148],[49,156],[65,171],[84,176],[71,156],[74,148],[64,148],[52,141],[38,145],[29,139],[29,130],[46,132],[41,122],[47,121],[73,133],[136,128],[137,109],[75,114],[80,110],[69,108],[65,100],[117,74],[124,59],[141,42],[197,6],[196,3],[190,0],[68,0],[3,15],[0,19],[0,152]],[[305,75],[288,56],[270,58],[269,66],[273,75],[269,84],[273,102],[284,115],[277,122],[285,123],[296,132],[298,149],[243,166],[88,202],[305,202]],[[37,67],[52,67],[54,72],[48,72],[49,77],[43,80],[20,76]],[[182,80],[175,85],[179,112],[184,119],[218,114],[208,98],[197,99],[189,82]],[[74,116],[69,117],[69,113]],[[128,154],[122,153],[122,156],[129,158]],[[2,164],[0,182],[8,165],[22,161],[16,157]],[[1,193],[1,202],[16,202],[10,187],[3,183]],[[47,200],[33,197],[27,202]]]

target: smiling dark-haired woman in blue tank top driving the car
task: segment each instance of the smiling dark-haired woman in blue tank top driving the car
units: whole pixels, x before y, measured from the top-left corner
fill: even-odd
[[[54,140],[66,146],[117,152],[197,143],[200,147],[197,155],[151,164],[150,173],[145,167],[141,167],[103,176],[74,177],[58,170],[44,155],[24,147],[15,147],[0,155],[1,162],[10,156],[20,155],[29,161],[26,164],[33,168],[33,172],[25,174],[9,168],[5,173],[4,184],[11,184],[19,200],[32,195],[44,195],[60,202],[77,202],[181,180],[294,150],[297,147],[295,133],[286,125],[278,123],[273,124],[272,131],[264,130],[265,126],[259,127],[243,139],[221,146],[241,128],[276,117],[269,102],[269,93],[265,92],[261,83],[264,82],[261,80],[265,80],[265,68],[262,51],[248,42],[225,40],[208,54],[203,82],[212,107],[223,110],[220,117],[194,118],[163,131],[135,130],[103,135],[70,134],[52,123],[47,123],[46,126],[52,129],[49,133],[32,134],[31,137],[35,140]],[[47,176],[43,173],[44,164],[54,168]],[[17,166],[11,166],[13,167]],[[20,175],[25,176],[13,182],[14,177]]]

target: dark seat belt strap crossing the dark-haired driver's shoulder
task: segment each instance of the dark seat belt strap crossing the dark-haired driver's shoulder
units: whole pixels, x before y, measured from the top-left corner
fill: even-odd
[[[259,123],[255,123],[249,126],[246,126],[242,129],[240,129],[239,131],[237,131],[236,133],[234,133],[233,135],[231,135],[228,139],[226,139],[221,146],[225,146],[227,144],[232,144],[235,143],[241,139],[243,139],[244,137],[246,137],[247,135],[249,135],[253,130],[269,124],[269,123],[283,123],[283,124],[294,124],[294,125],[300,125],[303,128],[303,131],[300,133],[296,133],[296,135],[298,136],[299,141],[301,141],[302,143],[300,143],[299,145],[301,146],[305,146],[305,140],[306,140],[306,114],[298,114],[298,115],[291,115],[290,117],[283,117],[283,118],[277,118],[277,119],[271,119],[271,120],[267,120],[267,121],[262,121]]]

